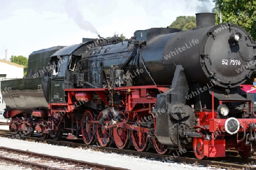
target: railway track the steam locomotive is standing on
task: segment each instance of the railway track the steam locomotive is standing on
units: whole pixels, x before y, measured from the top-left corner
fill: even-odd
[[[74,148],[84,148],[84,149],[92,149],[96,151],[102,151],[106,153],[117,153],[123,155],[132,155],[138,156],[139,158],[147,158],[159,160],[162,162],[180,162],[184,164],[195,164],[195,165],[204,165],[205,167],[216,167],[216,168],[225,168],[225,169],[255,169],[255,167],[251,166],[253,163],[256,163],[256,159],[241,159],[237,156],[237,154],[232,150],[229,156],[226,158],[210,158],[208,160],[198,160],[195,158],[193,152],[181,152],[174,151],[169,155],[159,155],[152,152],[138,152],[135,150],[119,150],[115,147],[101,147],[99,145],[86,145],[83,141],[71,142],[67,140],[55,141],[53,139],[40,139],[36,137],[20,137],[19,135],[15,135],[14,133],[0,133],[2,137],[11,137],[16,138],[17,136],[20,139],[26,139],[27,141],[33,142],[44,142],[53,145],[61,145],[61,146],[69,146]],[[234,155],[234,156],[233,156]],[[232,163],[233,162],[233,163]],[[234,163],[236,162],[236,163]]]

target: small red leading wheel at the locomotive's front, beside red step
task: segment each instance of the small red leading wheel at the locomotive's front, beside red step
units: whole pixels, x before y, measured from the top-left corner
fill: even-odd
[[[194,151],[197,159],[205,158],[204,140],[205,140],[204,135],[202,138],[194,138],[194,140],[193,140],[193,151]]]

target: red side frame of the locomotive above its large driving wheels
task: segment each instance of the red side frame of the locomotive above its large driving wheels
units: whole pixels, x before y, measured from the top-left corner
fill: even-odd
[[[126,95],[126,101],[125,101],[125,111],[128,116],[128,120],[130,124],[127,123],[127,120],[124,122],[119,122],[118,124],[109,125],[110,121],[104,121],[104,124],[108,123],[108,126],[106,128],[112,128],[113,126],[117,126],[120,128],[126,128],[130,130],[137,130],[144,133],[149,133],[150,129],[148,128],[142,128],[141,124],[139,126],[133,125],[133,116],[135,113],[138,112],[148,112],[148,114],[152,114],[151,111],[151,105],[156,103],[156,97],[151,97],[147,95],[147,91],[154,91],[155,89],[158,89],[162,92],[166,92],[170,89],[169,86],[156,86],[156,85],[150,85],[150,86],[130,86],[130,87],[115,87],[114,91],[119,91],[123,95]],[[75,104],[75,102],[72,102],[72,96],[76,96],[76,94],[79,94],[81,92],[95,92],[102,101],[106,105],[109,105],[109,101],[106,100],[106,97],[108,97],[108,88],[68,88],[65,89],[65,91],[68,93],[68,103],[67,104],[50,104],[49,108],[52,108],[53,106],[57,105],[67,105],[67,111],[66,112],[73,112],[75,108],[72,106]],[[145,109],[136,109],[134,110],[134,107],[136,104],[148,104],[148,108]],[[57,110],[51,111],[51,113],[57,112]],[[154,116],[152,115],[152,119],[154,120]],[[98,123],[97,120],[89,120],[89,123]],[[140,122],[140,121],[139,121]],[[135,123],[135,122],[134,122]],[[155,120],[154,120],[155,125]],[[139,133],[141,134],[141,133]]]

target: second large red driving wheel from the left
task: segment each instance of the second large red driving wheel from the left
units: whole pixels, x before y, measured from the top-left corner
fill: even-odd
[[[97,124],[97,139],[98,142],[102,147],[109,146],[111,139],[112,139],[112,128],[106,129],[103,121],[110,121],[110,116],[109,115],[104,115],[103,112],[100,112],[98,114],[98,121],[100,123]],[[102,122],[102,123],[101,123]]]

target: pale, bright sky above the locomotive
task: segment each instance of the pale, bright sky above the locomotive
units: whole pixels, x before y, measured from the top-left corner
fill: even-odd
[[[0,0],[0,59],[83,37],[126,38],[136,30],[167,27],[177,16],[210,12],[212,0]]]

